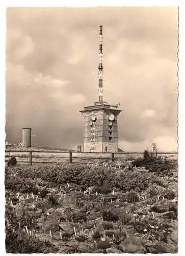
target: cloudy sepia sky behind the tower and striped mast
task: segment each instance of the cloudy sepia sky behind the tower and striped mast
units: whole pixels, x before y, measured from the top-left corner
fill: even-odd
[[[80,110],[98,100],[98,28],[103,25],[104,100],[120,102],[119,147],[152,142],[177,150],[176,7],[8,8],[6,140],[73,148]]]

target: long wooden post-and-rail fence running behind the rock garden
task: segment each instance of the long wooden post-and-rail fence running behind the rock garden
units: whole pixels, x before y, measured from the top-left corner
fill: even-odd
[[[177,152],[158,152],[158,155],[167,156],[172,160],[177,160]],[[15,156],[17,163],[21,164],[54,164],[54,163],[100,163],[105,161],[125,161],[134,160],[143,156],[143,152],[119,152],[119,153],[82,153],[82,152],[59,152],[55,150],[29,150],[6,148],[5,162],[10,156]]]

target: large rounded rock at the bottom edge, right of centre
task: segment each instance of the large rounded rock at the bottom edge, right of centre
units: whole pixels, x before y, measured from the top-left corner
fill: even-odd
[[[146,253],[146,245],[137,237],[129,236],[120,244],[120,248],[126,253]]]

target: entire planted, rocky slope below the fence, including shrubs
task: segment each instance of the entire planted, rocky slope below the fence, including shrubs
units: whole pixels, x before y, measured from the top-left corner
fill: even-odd
[[[6,251],[177,252],[177,163],[146,159],[6,167]]]

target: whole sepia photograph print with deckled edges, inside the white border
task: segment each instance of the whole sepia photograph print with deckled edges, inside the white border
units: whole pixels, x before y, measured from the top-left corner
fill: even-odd
[[[7,253],[178,252],[178,17],[7,8]]]

